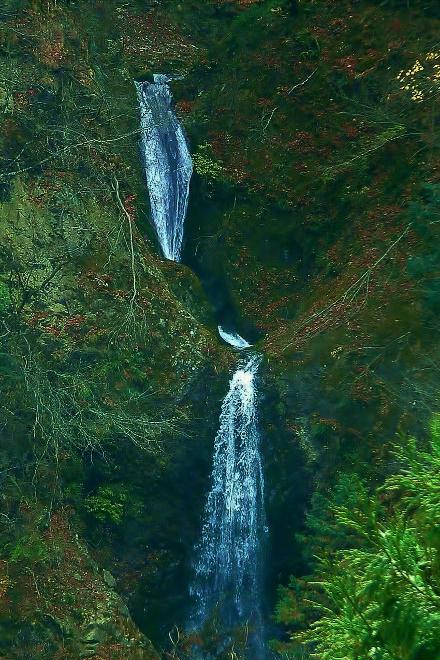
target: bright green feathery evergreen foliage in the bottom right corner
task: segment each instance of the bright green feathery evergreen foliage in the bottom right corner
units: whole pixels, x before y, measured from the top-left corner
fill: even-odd
[[[409,439],[394,454],[401,468],[373,496],[357,489],[356,504],[330,507],[355,547],[327,553],[308,582],[318,618],[292,642],[312,657],[440,658],[440,416],[429,449]]]

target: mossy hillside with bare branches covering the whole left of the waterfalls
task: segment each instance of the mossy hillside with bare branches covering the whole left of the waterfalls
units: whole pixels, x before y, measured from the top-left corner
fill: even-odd
[[[155,657],[102,569],[132,612],[150,585],[142,625],[157,630],[158,584],[183,579],[197,530],[196,511],[177,521],[183,475],[209,461],[207,383],[229,362],[199,283],[161,262],[147,221],[133,76],[181,37],[146,12],[136,45],[137,10],[118,3],[2,12],[0,652]]]

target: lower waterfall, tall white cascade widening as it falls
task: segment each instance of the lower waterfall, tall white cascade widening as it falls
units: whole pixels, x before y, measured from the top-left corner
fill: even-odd
[[[211,490],[196,548],[192,629],[216,614],[226,628],[248,624],[252,658],[264,657],[261,614],[264,481],[257,419],[260,356],[240,362],[223,401]]]

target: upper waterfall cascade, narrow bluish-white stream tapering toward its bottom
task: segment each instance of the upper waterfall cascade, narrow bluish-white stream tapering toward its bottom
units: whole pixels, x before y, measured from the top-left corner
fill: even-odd
[[[141,151],[151,214],[164,257],[179,261],[193,164],[182,126],[172,108],[168,76],[136,82]]]

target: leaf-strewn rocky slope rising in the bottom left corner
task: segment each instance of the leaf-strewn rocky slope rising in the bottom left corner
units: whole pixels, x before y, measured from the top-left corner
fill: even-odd
[[[12,563],[2,563],[4,657],[159,658],[71,521],[71,511],[57,510],[38,540],[33,532],[37,561],[16,547]]]

